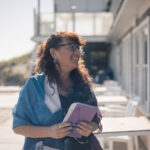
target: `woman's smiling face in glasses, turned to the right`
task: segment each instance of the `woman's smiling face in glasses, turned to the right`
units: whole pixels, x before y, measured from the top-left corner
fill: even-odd
[[[62,42],[58,44],[58,50],[53,50],[52,56],[58,61],[62,71],[70,72],[78,66],[81,49],[79,45],[67,39],[63,39]]]

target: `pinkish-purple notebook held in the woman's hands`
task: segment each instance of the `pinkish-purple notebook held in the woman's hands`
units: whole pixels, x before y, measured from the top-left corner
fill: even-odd
[[[98,107],[96,106],[73,103],[63,120],[63,122],[72,122],[73,131],[68,136],[81,138],[81,135],[76,131],[77,123],[80,121],[91,122],[97,112]]]

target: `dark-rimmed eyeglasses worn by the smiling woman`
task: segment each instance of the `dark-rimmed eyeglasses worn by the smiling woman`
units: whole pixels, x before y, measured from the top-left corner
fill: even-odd
[[[72,44],[72,43],[69,43],[69,44],[58,44],[57,47],[63,47],[63,46],[69,46],[69,48],[74,52],[76,50],[79,50],[80,52],[83,51],[83,47],[78,45],[78,44]]]

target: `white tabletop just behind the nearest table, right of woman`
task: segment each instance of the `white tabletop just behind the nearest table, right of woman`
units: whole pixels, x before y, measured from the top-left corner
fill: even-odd
[[[98,105],[106,104],[127,104],[128,99],[125,96],[96,96]]]

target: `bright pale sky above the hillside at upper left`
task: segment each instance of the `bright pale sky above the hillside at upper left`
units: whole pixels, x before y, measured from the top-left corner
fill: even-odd
[[[36,0],[0,0],[0,61],[31,51]]]

